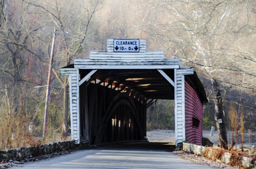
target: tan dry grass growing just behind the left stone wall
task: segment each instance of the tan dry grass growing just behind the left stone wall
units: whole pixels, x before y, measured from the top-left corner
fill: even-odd
[[[46,137],[42,138],[42,125],[36,126],[31,123],[31,119],[32,117],[29,115],[2,111],[0,113],[0,150],[36,146],[46,142],[63,140],[61,138],[61,127],[57,126],[57,128],[51,123],[48,123]]]

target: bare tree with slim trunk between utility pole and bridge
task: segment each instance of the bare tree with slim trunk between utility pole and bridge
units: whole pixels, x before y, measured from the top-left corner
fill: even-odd
[[[71,63],[75,56],[82,56],[85,52],[84,46],[89,35],[92,34],[95,29],[90,28],[92,25],[92,19],[100,9],[100,1],[44,1],[44,2],[30,2],[23,0],[26,4],[36,7],[39,11],[42,11],[43,24],[40,26],[48,26],[56,28],[60,34],[56,39],[56,52],[55,57],[59,65],[56,67],[67,66]],[[69,13],[69,15],[67,15]],[[88,43],[87,43],[88,44]],[[82,56],[84,57],[84,56]],[[66,138],[68,134],[68,77],[61,78],[56,72],[55,68],[53,73],[59,80],[59,83],[63,86],[63,137]]]

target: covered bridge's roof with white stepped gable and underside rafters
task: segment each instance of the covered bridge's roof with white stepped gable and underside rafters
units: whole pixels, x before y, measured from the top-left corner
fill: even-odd
[[[139,43],[140,52],[114,52],[113,39],[108,39],[106,51],[92,50],[89,58],[75,58],[74,64],[60,69],[61,74],[77,68],[80,79],[92,73],[89,80],[85,78],[85,83],[112,86],[138,98],[174,100],[174,81],[177,80],[174,69],[178,69],[179,74],[190,75],[201,102],[207,102],[203,85],[192,68],[180,65],[177,58],[164,58],[164,51],[147,51],[145,39]]]

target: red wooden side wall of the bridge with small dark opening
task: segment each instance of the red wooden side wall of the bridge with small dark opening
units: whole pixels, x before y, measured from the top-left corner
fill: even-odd
[[[195,127],[192,118],[199,120]],[[195,90],[185,81],[185,135],[187,143],[202,145],[203,104]]]

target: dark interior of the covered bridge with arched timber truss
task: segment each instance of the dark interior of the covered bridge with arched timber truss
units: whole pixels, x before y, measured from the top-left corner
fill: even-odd
[[[79,69],[80,79],[90,71]],[[164,72],[174,81],[173,69]],[[156,69],[98,70],[79,91],[80,140],[91,145],[145,141],[150,99],[174,100],[174,87]]]

